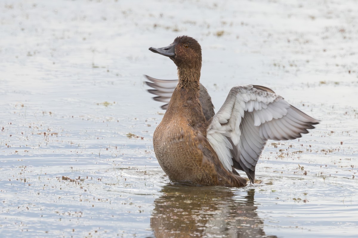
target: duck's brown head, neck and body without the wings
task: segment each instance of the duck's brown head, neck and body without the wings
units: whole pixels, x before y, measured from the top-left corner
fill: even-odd
[[[153,135],[160,166],[173,182],[195,186],[245,186],[247,180],[222,166],[206,138],[208,123],[199,102],[202,64],[199,43],[182,36],[171,46],[175,56],[169,57],[178,66],[179,82]],[[158,49],[151,47],[150,50],[165,55]]]

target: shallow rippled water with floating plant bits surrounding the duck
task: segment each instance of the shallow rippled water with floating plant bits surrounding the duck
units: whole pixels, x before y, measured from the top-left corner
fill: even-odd
[[[0,3],[1,237],[356,237],[355,1]],[[203,49],[218,110],[229,89],[272,88],[322,122],[270,141],[245,188],[169,184],[163,117],[143,74],[178,35]]]

